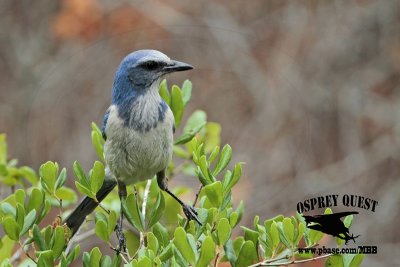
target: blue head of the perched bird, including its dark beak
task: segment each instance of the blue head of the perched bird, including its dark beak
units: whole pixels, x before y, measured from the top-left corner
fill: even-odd
[[[155,85],[158,88],[165,74],[190,69],[193,69],[191,65],[172,60],[157,50],[132,52],[122,60],[115,73],[112,103],[121,105]]]

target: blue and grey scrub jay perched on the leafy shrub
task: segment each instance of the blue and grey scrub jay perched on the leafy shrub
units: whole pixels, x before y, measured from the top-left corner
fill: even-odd
[[[122,232],[122,202],[127,196],[126,185],[157,177],[161,190],[182,206],[186,217],[199,224],[196,210],[184,204],[168,188],[165,170],[172,157],[174,115],[161,98],[159,86],[165,75],[193,69],[193,66],[172,60],[157,50],[137,50],[128,54],[115,73],[111,105],[101,127],[106,163],[106,179],[97,192],[97,202],[84,198],[65,219],[76,233],[87,215],[118,186],[121,213],[116,227],[119,251],[126,251]]]

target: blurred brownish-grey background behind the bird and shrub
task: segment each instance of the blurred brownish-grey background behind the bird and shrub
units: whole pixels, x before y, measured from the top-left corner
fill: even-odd
[[[88,169],[120,60],[161,50],[196,67],[169,77],[193,82],[187,114],[246,162],[245,224],[362,195],[379,201],[351,228],[378,246],[363,266],[400,265],[399,1],[1,0],[0,40],[0,132],[20,164]]]

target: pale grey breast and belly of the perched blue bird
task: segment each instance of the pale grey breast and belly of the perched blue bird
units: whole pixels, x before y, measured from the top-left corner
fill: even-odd
[[[174,117],[168,106],[160,115],[159,101],[157,106],[147,102],[133,107],[142,112],[132,112],[128,125],[118,116],[116,106],[110,108],[105,160],[111,172],[127,184],[151,179],[168,166],[172,156]]]

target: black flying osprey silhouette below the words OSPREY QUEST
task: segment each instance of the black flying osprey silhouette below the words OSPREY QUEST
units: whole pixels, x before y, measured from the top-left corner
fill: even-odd
[[[343,239],[347,245],[350,240],[353,240],[353,242],[356,243],[356,238],[360,236],[354,236],[353,234],[350,235],[349,228],[346,227],[340,219],[352,214],[358,214],[358,212],[347,211],[315,216],[303,215],[303,217],[306,221],[307,228]]]

